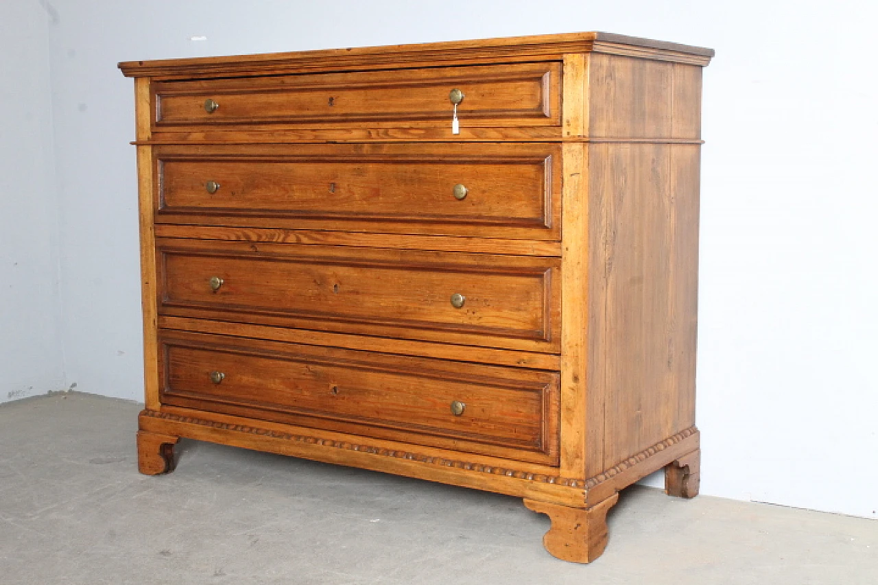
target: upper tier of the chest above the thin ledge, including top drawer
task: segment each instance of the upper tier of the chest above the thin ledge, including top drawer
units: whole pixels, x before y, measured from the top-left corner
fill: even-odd
[[[609,92],[603,101],[617,103],[602,119],[630,119],[637,115],[630,96],[670,107],[666,94],[692,85],[711,54],[582,32],[119,67],[150,82],[149,133],[140,141],[561,141],[630,130],[583,119],[590,84]],[[588,67],[587,55],[594,55]],[[594,112],[604,109],[595,105]],[[645,138],[697,138],[680,127],[638,130]]]

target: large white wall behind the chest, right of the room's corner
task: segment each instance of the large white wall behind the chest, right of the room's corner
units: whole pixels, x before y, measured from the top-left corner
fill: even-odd
[[[582,30],[716,48],[704,76],[702,493],[876,517],[874,3],[56,0],[54,8],[68,380],[125,398],[140,397],[140,306],[127,146],[133,84],[116,61]]]

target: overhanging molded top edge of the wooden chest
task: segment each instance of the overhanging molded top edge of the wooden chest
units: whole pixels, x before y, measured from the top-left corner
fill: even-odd
[[[192,79],[230,75],[278,75],[344,69],[399,69],[455,64],[559,60],[568,53],[618,54],[705,66],[714,51],[609,32],[571,32],[488,40],[460,40],[389,47],[357,47],[295,53],[124,61],[128,77]]]

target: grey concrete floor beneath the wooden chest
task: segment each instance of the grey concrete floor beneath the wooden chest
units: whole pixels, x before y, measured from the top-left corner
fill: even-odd
[[[504,495],[194,441],[145,477],[139,409],[0,406],[0,583],[878,583],[878,523],[807,510],[629,488],[586,566]]]

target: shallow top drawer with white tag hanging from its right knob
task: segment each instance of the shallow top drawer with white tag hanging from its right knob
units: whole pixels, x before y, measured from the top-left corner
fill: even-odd
[[[155,126],[558,126],[558,62],[154,83]]]

